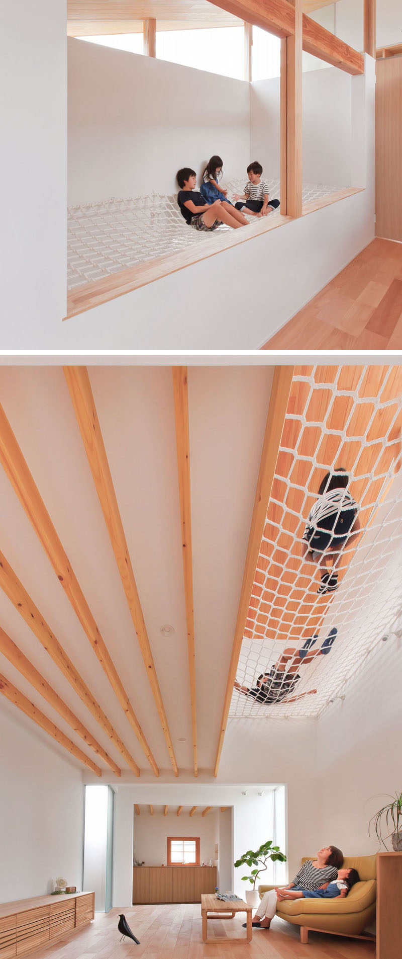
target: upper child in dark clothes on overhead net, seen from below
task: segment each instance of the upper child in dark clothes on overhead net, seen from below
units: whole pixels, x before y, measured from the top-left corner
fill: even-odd
[[[307,562],[317,563],[323,570],[318,593],[334,593],[338,589],[336,567],[341,552],[359,536],[358,504],[349,493],[349,478],[339,466],[325,474],[302,535],[301,552]]]

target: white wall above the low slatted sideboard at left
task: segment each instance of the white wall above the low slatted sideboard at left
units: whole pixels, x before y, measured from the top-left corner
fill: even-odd
[[[82,888],[81,769],[30,719],[0,704],[0,902]]]

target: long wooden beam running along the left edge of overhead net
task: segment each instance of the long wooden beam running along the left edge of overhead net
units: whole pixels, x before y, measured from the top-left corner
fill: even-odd
[[[293,366],[276,366],[271,388],[271,397],[265,426],[261,460],[257,479],[256,497],[253,517],[250,527],[249,542],[244,564],[243,581],[238,601],[237,619],[234,628],[234,643],[229,667],[228,682],[226,684],[223,702],[222,718],[216,749],[216,758],[213,775],[217,776],[219,762],[228,721],[229,707],[234,690],[234,679],[243,640],[244,627],[249,610],[250,596],[257,567],[257,558],[265,526],[269,498],[275,474],[275,466],[279,452],[280,436],[283,421],[286,415],[290,387],[292,385]]]

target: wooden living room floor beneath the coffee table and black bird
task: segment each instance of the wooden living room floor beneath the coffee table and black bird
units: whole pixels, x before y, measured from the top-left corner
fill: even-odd
[[[120,943],[117,929],[119,912],[123,912],[134,934],[140,940]],[[302,946],[299,927],[274,919],[271,929],[253,930],[250,946],[244,942],[231,946],[231,936],[245,934],[242,914],[232,920],[209,924],[209,936],[228,936],[227,943],[203,945],[201,940],[201,904],[137,905],[97,913],[89,926],[73,933],[66,940],[33,953],[34,959],[375,959],[372,943],[326,936],[311,932],[308,945]]]

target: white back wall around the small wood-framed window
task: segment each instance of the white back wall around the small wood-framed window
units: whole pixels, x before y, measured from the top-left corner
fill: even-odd
[[[140,815],[134,815],[134,855],[145,866],[167,865],[167,836],[199,836],[200,861],[208,865],[214,859],[215,830],[218,818],[217,810],[212,809],[207,816],[197,809],[193,816],[176,811],[164,815],[163,807],[154,807],[151,816],[149,807],[142,807]]]

